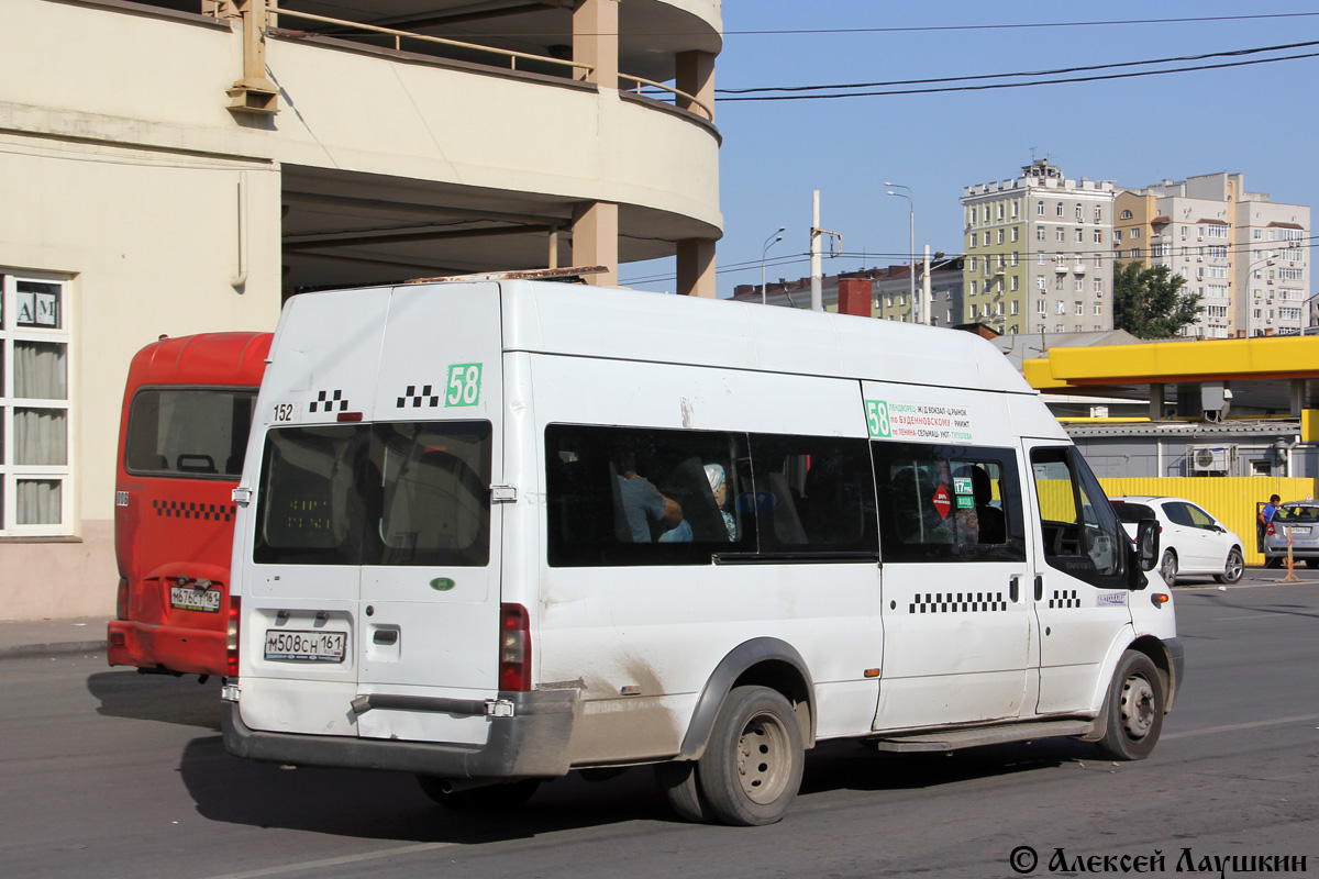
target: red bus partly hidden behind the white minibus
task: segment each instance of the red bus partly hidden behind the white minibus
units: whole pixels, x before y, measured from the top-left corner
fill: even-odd
[[[226,675],[232,490],[268,332],[162,337],[128,368],[115,485],[111,666]]]

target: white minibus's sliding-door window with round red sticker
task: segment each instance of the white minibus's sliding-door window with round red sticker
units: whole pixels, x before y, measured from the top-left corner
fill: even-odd
[[[872,443],[884,561],[1024,561],[1012,449]]]

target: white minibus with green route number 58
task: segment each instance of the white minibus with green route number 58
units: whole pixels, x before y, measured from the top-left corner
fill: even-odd
[[[508,805],[654,764],[758,825],[805,750],[1140,759],[1170,590],[967,332],[501,279],[289,299],[237,505],[226,747]]]

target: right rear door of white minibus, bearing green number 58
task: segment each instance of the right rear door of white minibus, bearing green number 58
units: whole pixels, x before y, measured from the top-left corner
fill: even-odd
[[[499,286],[396,287],[376,389],[377,564],[361,575],[357,731],[481,743],[499,687]],[[365,704],[359,701],[359,705]]]

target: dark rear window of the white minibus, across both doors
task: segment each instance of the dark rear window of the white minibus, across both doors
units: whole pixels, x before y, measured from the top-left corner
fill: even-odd
[[[491,436],[489,422],[270,431],[253,559],[484,567]]]

